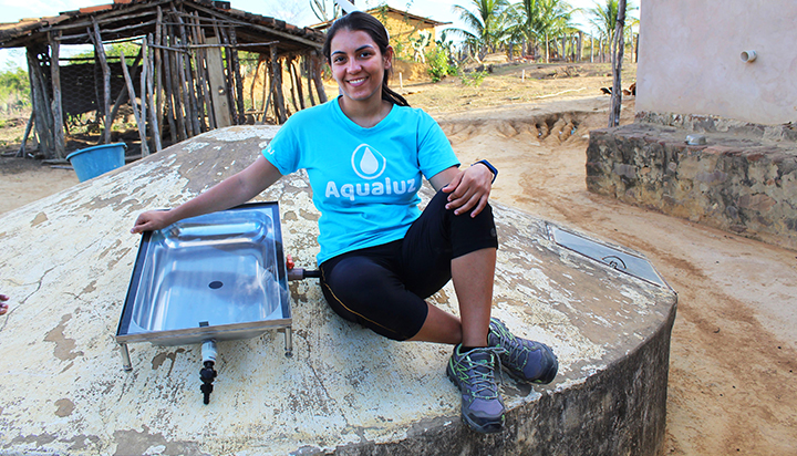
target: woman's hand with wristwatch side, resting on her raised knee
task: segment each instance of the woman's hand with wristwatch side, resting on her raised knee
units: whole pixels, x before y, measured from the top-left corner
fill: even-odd
[[[470,217],[476,217],[487,206],[493,188],[493,173],[480,164],[464,170],[454,169],[456,175],[442,188],[448,194],[446,209],[454,209],[457,216],[470,210]]]

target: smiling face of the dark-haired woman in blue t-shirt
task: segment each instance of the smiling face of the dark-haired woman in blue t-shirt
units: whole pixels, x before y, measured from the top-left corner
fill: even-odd
[[[382,54],[366,32],[342,29],[330,42],[332,77],[344,97],[352,101],[382,100],[384,72],[392,64],[393,50]]]

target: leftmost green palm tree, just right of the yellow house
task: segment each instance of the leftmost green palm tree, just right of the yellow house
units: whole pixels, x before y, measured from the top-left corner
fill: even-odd
[[[501,43],[506,32],[506,9],[508,0],[472,0],[475,12],[455,4],[452,11],[459,14],[459,19],[467,29],[446,29],[448,33],[458,34],[465,39],[465,44],[484,59],[487,52],[495,52]]]

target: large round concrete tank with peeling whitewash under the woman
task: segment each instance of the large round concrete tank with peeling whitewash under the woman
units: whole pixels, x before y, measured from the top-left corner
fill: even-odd
[[[0,217],[0,291],[13,299],[0,318],[2,453],[663,452],[675,293],[560,246],[553,225],[498,204],[494,314],[552,346],[560,363],[546,386],[504,376],[504,433],[462,423],[445,376],[449,346],[397,343],[343,321],[314,279],[290,284],[293,357],[277,332],[220,342],[209,405],[199,345],[132,344],[133,371],[123,371],[114,333],[139,241],[128,232],[135,216],[242,169],[275,132],[206,133]],[[286,251],[314,267],[318,213],[306,176],[258,199],[280,201]],[[457,309],[451,284],[432,299]]]

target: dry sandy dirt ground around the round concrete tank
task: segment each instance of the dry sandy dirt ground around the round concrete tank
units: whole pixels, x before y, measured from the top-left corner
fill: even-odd
[[[677,291],[665,454],[797,455],[797,338],[783,318],[797,304],[797,252],[588,193],[584,152],[608,122],[608,70],[504,66],[480,86],[448,77],[402,92],[441,122],[463,163],[500,169],[495,200],[641,251]],[[623,123],[633,110],[627,97]],[[71,170],[2,158],[0,213],[76,183]]]

